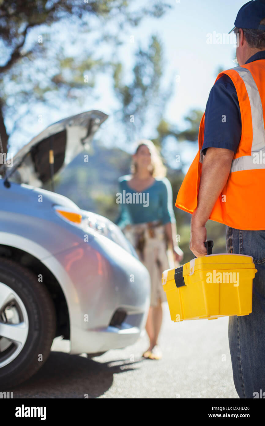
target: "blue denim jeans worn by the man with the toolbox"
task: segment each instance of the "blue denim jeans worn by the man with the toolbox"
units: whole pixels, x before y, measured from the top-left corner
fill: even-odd
[[[253,257],[252,313],[229,317],[228,338],[234,384],[239,398],[265,398],[265,230],[245,231],[226,227],[227,253]],[[260,390],[262,390],[260,392]]]

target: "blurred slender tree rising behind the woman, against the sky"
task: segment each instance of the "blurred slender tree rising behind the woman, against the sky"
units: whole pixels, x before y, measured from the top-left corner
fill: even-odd
[[[171,87],[161,87],[163,72],[163,48],[159,38],[151,37],[147,49],[139,46],[135,52],[135,65],[130,83],[125,84],[125,75],[122,63],[117,63],[114,69],[114,88],[117,98],[121,102],[118,112],[128,140],[142,137],[145,132],[145,123],[151,122],[154,128],[170,98]],[[150,134],[150,129],[146,129]]]

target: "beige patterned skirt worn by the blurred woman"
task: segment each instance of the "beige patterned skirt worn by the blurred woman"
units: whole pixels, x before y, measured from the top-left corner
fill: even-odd
[[[126,238],[134,246],[137,254],[151,277],[151,306],[167,300],[162,286],[162,272],[169,269],[165,229],[157,222],[128,225],[124,229]]]

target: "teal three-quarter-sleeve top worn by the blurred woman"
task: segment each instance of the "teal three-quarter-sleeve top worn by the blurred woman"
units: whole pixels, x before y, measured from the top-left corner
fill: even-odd
[[[172,187],[167,178],[156,178],[153,184],[140,193],[128,186],[131,175],[119,178],[119,217],[116,224],[124,228],[129,224],[147,223],[161,220],[165,225],[176,222],[172,207]]]

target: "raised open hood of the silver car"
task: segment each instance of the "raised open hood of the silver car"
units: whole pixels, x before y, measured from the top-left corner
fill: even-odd
[[[41,186],[79,154],[108,118],[101,111],[87,111],[51,124],[14,155],[13,165],[5,167],[5,179]]]

